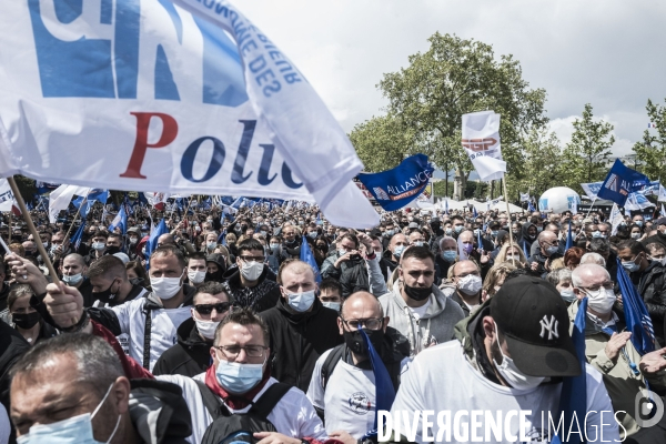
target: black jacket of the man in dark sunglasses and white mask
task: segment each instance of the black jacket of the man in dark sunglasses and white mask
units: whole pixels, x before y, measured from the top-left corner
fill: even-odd
[[[178,344],[162,353],[153,367],[154,375],[180,374],[194,376],[211,365],[211,342],[205,342],[196,330],[196,323],[189,319],[178,327]]]

